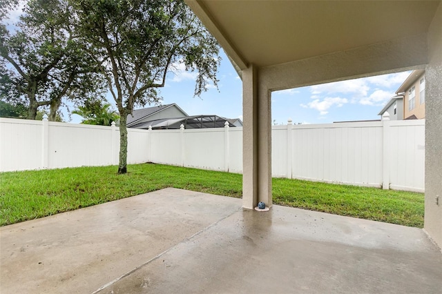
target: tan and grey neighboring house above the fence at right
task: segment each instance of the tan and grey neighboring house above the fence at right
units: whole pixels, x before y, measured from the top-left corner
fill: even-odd
[[[425,70],[412,71],[378,115],[385,112],[390,120],[425,119]]]

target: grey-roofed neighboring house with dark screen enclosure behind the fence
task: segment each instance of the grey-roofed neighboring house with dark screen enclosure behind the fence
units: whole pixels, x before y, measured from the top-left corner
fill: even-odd
[[[184,128],[224,128],[226,121],[229,126],[242,126],[241,119],[227,119],[218,115],[187,115],[176,104],[167,104],[163,106],[153,106],[133,110],[132,115],[127,117],[128,128],[148,129],[179,129],[181,125]]]

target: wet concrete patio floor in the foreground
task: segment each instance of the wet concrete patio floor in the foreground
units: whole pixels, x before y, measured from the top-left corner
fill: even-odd
[[[0,293],[442,293],[419,228],[166,188],[0,228]]]

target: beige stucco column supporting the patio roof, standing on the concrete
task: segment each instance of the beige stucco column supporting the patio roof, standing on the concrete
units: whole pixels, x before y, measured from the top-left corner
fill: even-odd
[[[258,68],[242,71],[242,207],[271,206],[270,92],[259,85]]]

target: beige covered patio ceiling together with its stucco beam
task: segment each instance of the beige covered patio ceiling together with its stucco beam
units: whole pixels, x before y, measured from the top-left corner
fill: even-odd
[[[273,79],[271,90],[287,88],[287,75],[300,78],[290,85],[297,87],[422,68],[427,63],[427,30],[441,4],[185,1],[218,39],[238,74],[250,64],[260,68],[260,75],[285,72],[283,79],[281,74]],[[308,72],[311,64],[328,72]],[[306,77],[294,75],[294,67],[307,70]]]

